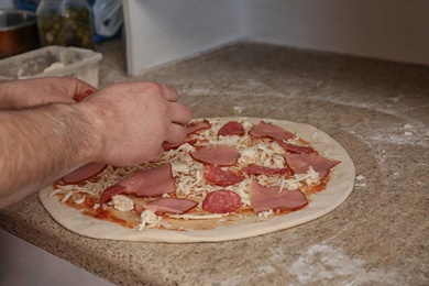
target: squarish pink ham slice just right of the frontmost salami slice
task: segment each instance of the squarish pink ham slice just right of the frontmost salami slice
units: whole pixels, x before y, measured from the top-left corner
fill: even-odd
[[[263,187],[256,180],[251,186],[251,208],[255,213],[265,210],[288,210],[294,211],[308,205],[306,196],[299,189],[284,189],[271,186]]]

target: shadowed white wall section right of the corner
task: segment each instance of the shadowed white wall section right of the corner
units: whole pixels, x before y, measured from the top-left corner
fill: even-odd
[[[244,1],[253,41],[429,64],[428,0]]]

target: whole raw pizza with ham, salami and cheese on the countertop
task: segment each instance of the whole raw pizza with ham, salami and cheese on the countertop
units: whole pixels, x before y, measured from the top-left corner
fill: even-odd
[[[65,228],[97,239],[226,241],[317,219],[351,194],[354,165],[324,132],[260,118],[195,119],[158,162],[89,164],[40,193]]]

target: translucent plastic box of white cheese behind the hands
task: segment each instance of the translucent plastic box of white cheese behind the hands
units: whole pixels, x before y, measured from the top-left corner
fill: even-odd
[[[98,87],[102,55],[79,47],[46,46],[0,61],[0,80],[73,76]]]

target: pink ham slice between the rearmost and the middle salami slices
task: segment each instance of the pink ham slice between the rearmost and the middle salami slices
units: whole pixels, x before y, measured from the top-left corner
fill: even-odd
[[[189,155],[199,162],[218,165],[232,166],[240,157],[240,152],[234,146],[216,145],[201,147],[198,151],[190,152]]]

